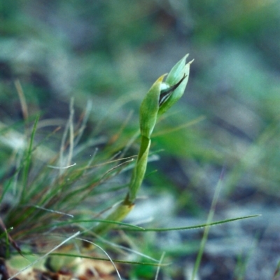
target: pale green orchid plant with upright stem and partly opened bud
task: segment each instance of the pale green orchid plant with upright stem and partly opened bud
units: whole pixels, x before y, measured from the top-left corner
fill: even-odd
[[[140,106],[140,133],[141,146],[137,157],[137,162],[132,172],[129,190],[123,202],[114,209],[106,218],[106,223],[99,223],[94,232],[97,234],[106,233],[113,224],[109,221],[122,221],[125,216],[133,209],[137,193],[143,182],[146,167],[148,163],[148,153],[151,147],[151,135],[158,117],[171,108],[174,103],[179,101],[183,95],[190,72],[190,64],[186,64],[186,54],[172,70],[165,75],[160,76],[149,89]],[[165,82],[164,78],[167,76]],[[107,223],[108,222],[108,223]]]

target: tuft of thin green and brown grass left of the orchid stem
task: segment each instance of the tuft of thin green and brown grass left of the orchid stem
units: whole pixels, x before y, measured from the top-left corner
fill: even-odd
[[[114,154],[108,147],[98,152],[95,147],[105,143],[102,139],[87,140],[79,145],[89,112],[83,113],[83,119],[77,125],[73,122],[73,101],[70,111],[57,154],[50,152],[41,157],[48,150],[45,143],[55,139],[59,129],[55,128],[43,139],[36,140],[42,134],[40,130],[44,122],[37,116],[31,132],[27,129],[27,135],[20,135],[22,139],[29,139],[29,143],[11,155],[17,160],[16,163],[10,161],[7,170],[13,172],[6,175],[1,186],[1,205],[6,204],[7,209],[1,223],[0,246],[6,259],[14,255],[10,246],[17,249],[22,258],[28,252],[40,256],[47,251],[48,254],[38,257],[41,259],[52,253],[48,248],[57,237],[65,236],[69,243],[67,236],[73,231],[80,233],[82,230],[86,236],[94,224],[103,221],[97,217],[104,211],[104,206],[110,208],[118,201],[118,193],[125,189],[123,181],[115,182],[112,187],[113,179],[116,175],[121,176],[125,168],[130,168],[134,156]],[[6,128],[6,133],[8,131]],[[1,138],[6,135],[2,133]],[[73,158],[77,163],[72,161]],[[96,191],[100,186],[102,190]],[[111,192],[116,194],[117,200],[109,202]]]

